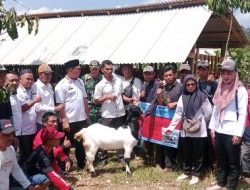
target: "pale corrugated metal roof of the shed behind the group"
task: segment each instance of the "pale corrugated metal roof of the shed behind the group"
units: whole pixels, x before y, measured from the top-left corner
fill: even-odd
[[[135,14],[41,19],[36,36],[20,29],[0,46],[2,64],[183,62],[210,18],[205,6]]]

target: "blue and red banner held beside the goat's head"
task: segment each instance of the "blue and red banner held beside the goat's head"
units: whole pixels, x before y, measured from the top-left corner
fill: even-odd
[[[149,103],[140,102],[140,108],[143,113],[149,107]],[[174,116],[174,109],[168,109],[166,106],[157,106],[153,116],[147,116],[141,123],[141,139],[152,143],[178,148],[180,125],[170,134],[166,134],[166,128],[171,123]]]

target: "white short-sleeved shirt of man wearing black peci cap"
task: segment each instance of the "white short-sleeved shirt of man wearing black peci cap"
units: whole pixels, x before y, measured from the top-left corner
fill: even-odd
[[[64,104],[69,123],[87,119],[84,98],[87,97],[81,79],[71,80],[64,77],[55,88],[56,103]]]

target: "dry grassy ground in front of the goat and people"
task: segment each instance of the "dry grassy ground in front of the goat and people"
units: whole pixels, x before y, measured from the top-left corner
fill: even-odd
[[[72,183],[74,189],[107,189],[107,190],[203,190],[216,181],[215,175],[209,172],[197,185],[190,186],[189,180],[177,182],[176,178],[181,174],[180,170],[163,172],[158,167],[144,166],[142,159],[130,162],[131,175],[125,173],[124,165],[118,162],[116,156],[109,155],[108,164],[104,167],[96,166],[98,177],[91,178],[85,170],[70,172],[69,176],[74,177]],[[71,181],[71,180],[70,180]],[[240,181],[237,190],[250,190],[249,185]]]

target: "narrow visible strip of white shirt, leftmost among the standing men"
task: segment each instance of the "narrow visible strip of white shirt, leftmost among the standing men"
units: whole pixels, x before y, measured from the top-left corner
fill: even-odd
[[[10,96],[11,110],[13,115],[13,124],[16,136],[21,135],[22,127],[22,106],[16,95]]]

